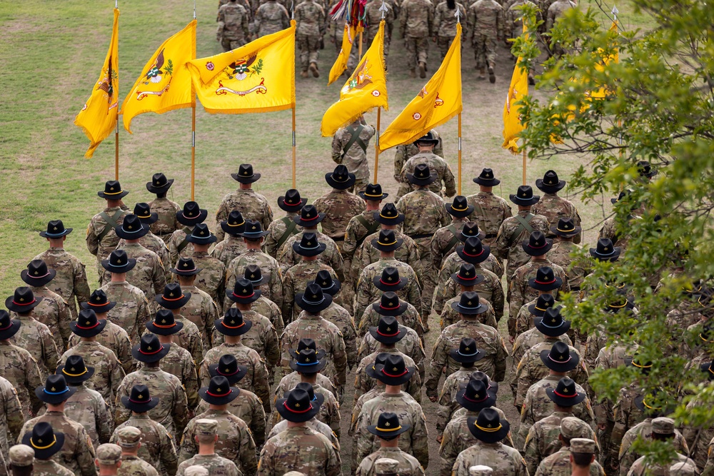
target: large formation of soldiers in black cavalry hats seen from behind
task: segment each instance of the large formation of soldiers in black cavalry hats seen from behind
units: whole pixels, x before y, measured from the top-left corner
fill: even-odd
[[[133,209],[107,181],[86,232],[89,273],[64,250],[72,228],[49,221],[39,233],[49,249],[0,310],[0,475],[336,476],[348,466],[407,476],[430,462],[443,476],[714,471],[711,428],[675,427],[635,384],[615,402],[594,395],[595,368],[651,363],[636,345],[575,332],[558,305],[562,293],[588,299],[583,279],[595,261],[625,255],[628,231],[605,221],[591,261],[575,261],[580,216],[555,171],[535,181],[542,196],[531,186],[509,196],[513,214],[491,168],[473,178],[477,193],[454,196],[437,153],[436,131],[397,151],[396,203],[341,164],[313,203],[294,189],[280,196],[279,218],[253,190],[261,173],[241,164],[213,231],[198,203],[166,198],[174,180],[163,173],[146,183],[154,201]],[[640,164],[642,180],[655,173]],[[637,312],[618,296],[597,304],[603,318]],[[705,339],[710,300],[695,285],[673,328]],[[685,351],[710,380],[708,353]],[[499,407],[509,389],[518,422]],[[640,438],[672,445],[675,459],[647,464]]]

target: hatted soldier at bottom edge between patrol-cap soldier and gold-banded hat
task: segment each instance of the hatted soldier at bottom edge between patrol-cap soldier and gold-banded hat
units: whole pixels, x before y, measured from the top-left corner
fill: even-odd
[[[290,425],[271,437],[261,450],[258,476],[284,475],[288,470],[305,474],[341,476],[339,450],[324,435],[311,430],[306,422],[317,415],[320,400],[310,400],[301,388],[278,398],[275,408]]]

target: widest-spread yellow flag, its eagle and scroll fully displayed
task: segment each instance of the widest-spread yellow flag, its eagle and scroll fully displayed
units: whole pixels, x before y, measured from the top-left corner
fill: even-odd
[[[282,111],[295,106],[295,21],[226,53],[186,62],[211,114]]]

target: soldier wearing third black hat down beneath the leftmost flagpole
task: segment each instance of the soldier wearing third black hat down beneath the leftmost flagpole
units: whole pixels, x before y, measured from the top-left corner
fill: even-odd
[[[149,300],[141,289],[126,282],[126,273],[134,268],[136,260],[129,258],[124,250],[114,250],[101,265],[109,271],[111,278],[99,290],[104,293],[107,301],[119,304],[112,308],[105,304],[102,309],[107,313],[107,318],[126,330],[131,343],[137,343],[144,323],[149,320]],[[92,306],[88,303],[83,308]]]

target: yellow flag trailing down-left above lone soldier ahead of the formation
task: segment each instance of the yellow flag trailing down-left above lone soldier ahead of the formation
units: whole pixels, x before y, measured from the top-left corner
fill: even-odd
[[[456,24],[456,36],[441,66],[382,133],[379,150],[411,143],[461,113],[461,109],[461,24]]]

